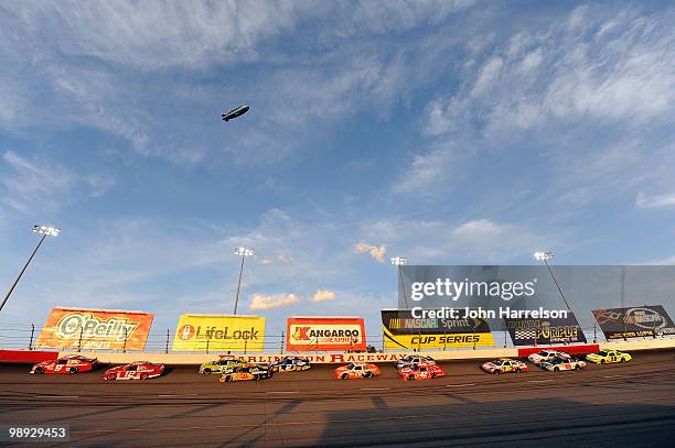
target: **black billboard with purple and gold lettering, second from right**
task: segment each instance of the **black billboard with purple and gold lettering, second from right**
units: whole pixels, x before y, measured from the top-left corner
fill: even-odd
[[[583,342],[586,336],[574,313],[567,317],[549,319],[504,318],[514,346]]]

